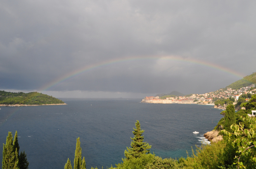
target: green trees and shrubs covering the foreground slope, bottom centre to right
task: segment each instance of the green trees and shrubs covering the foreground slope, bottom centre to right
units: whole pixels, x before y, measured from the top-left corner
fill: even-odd
[[[107,169],[254,169],[256,168],[256,118],[250,118],[246,113],[255,110],[256,95],[252,96],[246,107],[247,110],[235,113],[234,106],[229,104],[223,113],[225,117],[220,120],[225,128],[221,131],[224,139],[211,145],[196,147],[187,158],[181,157],[178,160],[162,159],[151,154],[151,145],[144,142],[142,136],[144,130],[141,130],[137,120],[136,128],[133,128],[131,147],[125,150],[123,162]],[[81,160],[80,164],[82,165]]]

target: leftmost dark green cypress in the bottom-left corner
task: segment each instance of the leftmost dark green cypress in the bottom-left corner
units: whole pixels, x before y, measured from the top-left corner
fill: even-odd
[[[17,144],[14,149],[12,132],[8,132],[6,144],[3,144],[2,169],[19,169]]]

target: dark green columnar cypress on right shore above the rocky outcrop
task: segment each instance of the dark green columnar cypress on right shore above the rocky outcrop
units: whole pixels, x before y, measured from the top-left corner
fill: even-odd
[[[235,123],[235,108],[233,104],[227,105],[225,114],[225,130],[232,132],[230,125]]]

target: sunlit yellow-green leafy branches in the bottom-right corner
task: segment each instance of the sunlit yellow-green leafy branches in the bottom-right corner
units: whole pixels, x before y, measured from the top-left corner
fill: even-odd
[[[223,135],[228,137],[233,147],[237,147],[238,155],[235,155],[234,164],[240,168],[256,168],[256,118],[241,117],[239,125],[231,125],[231,132],[222,130]],[[249,128],[244,128],[244,123]]]

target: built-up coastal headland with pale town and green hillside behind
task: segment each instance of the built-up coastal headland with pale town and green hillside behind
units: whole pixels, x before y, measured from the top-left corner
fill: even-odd
[[[225,109],[230,103],[236,106],[236,110],[243,108],[244,103],[256,93],[256,73],[240,79],[226,88],[203,94],[184,95],[177,91],[169,94],[157,94],[142,99],[142,103],[181,103],[214,105],[214,108]]]

